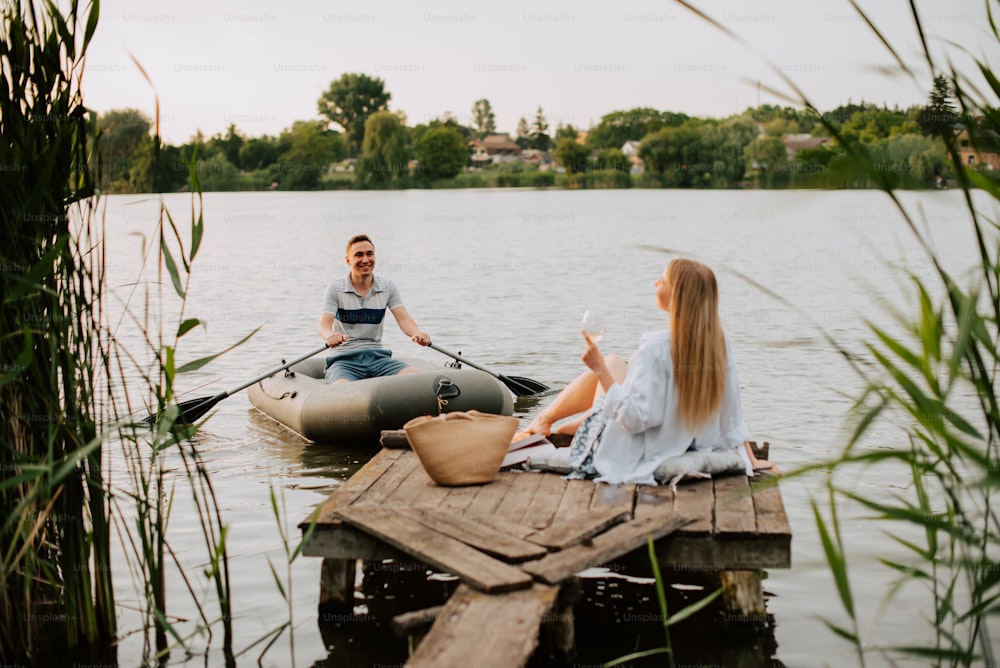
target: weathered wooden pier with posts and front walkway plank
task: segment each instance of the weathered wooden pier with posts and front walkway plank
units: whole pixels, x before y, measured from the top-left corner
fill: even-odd
[[[649,537],[664,572],[714,574],[743,619],[765,617],[762,570],[791,565],[773,479],[730,475],[675,493],[503,471],[486,485],[441,487],[403,448],[381,450],[300,526],[303,554],[323,557],[326,609],[353,606],[359,561],[415,561],[462,581],[443,607],[399,611],[398,630],[433,620],[408,666],[475,665],[484,655],[523,665],[540,638],[571,656],[574,575],[648,565]]]

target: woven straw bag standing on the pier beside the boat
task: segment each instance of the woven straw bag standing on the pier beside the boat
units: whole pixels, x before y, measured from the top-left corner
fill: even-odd
[[[496,477],[517,418],[479,411],[424,415],[403,425],[410,447],[439,485],[479,485]]]

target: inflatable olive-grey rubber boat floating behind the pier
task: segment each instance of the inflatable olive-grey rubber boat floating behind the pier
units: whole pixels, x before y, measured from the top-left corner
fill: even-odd
[[[254,383],[247,394],[257,409],[306,439],[342,444],[377,442],[382,430],[401,429],[421,415],[514,412],[510,391],[488,373],[404,361],[423,371],[331,385],[323,380],[324,358],[311,358]]]

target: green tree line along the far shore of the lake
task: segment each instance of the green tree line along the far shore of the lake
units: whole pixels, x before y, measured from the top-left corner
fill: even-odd
[[[538,174],[535,164],[512,161],[469,174],[471,141],[496,132],[487,99],[471,110],[472,126],[444,114],[410,127],[389,109],[385,83],[347,73],[317,102],[319,118],[295,121],[277,137],[247,137],[235,124],[224,134],[199,131],[178,146],[161,143],[151,119],[137,109],[114,109],[91,118],[97,138],[99,182],[106,192],[172,192],[198,175],[204,190],[314,190],[434,185],[564,185],[568,187],[733,188],[863,187],[852,171],[856,144],[866,158],[893,173],[903,187],[927,187],[952,177],[947,142],[961,127],[948,82],[939,77],[928,104],[889,109],[847,103],[815,110],[760,105],[727,118],[699,118],[641,107],[613,111],[585,134],[559,125],[550,134],[541,107],[521,117],[513,137],[522,149],[548,152],[562,167]],[[829,141],[790,157],[788,135]],[[833,136],[831,136],[833,135]],[[635,174],[628,142],[642,161]],[[353,159],[353,160],[348,160]],[[343,171],[331,165],[346,163]],[[492,173],[491,173],[492,172]]]

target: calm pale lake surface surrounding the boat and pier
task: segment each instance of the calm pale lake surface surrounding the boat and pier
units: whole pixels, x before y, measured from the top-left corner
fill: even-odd
[[[907,193],[902,200],[933,239],[945,266],[966,276],[976,249],[961,194]],[[124,297],[141,261],[142,235],[154,232],[159,200],[111,196],[104,201],[108,275],[116,294]],[[164,202],[179,227],[189,227],[190,197],[171,195]],[[992,209],[989,213],[996,215]],[[861,339],[868,338],[865,320],[892,328],[886,304],[908,304],[900,296],[906,272],[927,270],[898,210],[873,191],[210,193],[204,198],[204,214],[205,237],[185,317],[200,318],[206,326],[182,340],[178,358],[185,362],[218,352],[254,328],[260,331],[236,351],[183,377],[180,389],[188,392],[187,398],[238,386],[260,369],[319,345],[316,321],[323,290],[346,271],[344,244],[356,233],[372,236],[378,273],[396,281],[410,313],[435,342],[557,390],[583,369],[579,330],[585,308],[599,308],[606,316],[602,349],[626,357],[642,332],[664,325],[654,305],[653,281],[670,256],[648,248],[654,246],[716,269],[746,422],[758,441],[770,442],[772,458],[785,470],[820,461],[840,448],[847,409],[861,387],[820,328],[860,351]],[[120,335],[126,344],[139,347],[127,322]],[[411,343],[391,319],[385,342],[397,356],[447,361]],[[516,414],[527,422],[551,396],[519,402]],[[873,438],[894,441],[899,436],[886,429]],[[255,664],[266,641],[247,648],[289,616],[269,561],[286,588],[290,584],[294,651],[285,633],[264,654],[263,665],[291,665],[293,654],[297,665],[305,666],[404,661],[405,643],[392,636],[377,608],[398,613],[424,607],[424,590],[441,595],[447,583],[424,582],[420,573],[404,583],[402,593],[390,594],[394,598],[388,602],[359,599],[352,620],[318,619],[320,559],[300,557],[289,583],[271,508],[274,490],[283,506],[282,526],[297,540],[296,524],[373,451],[305,443],[253,409],[242,392],[219,405],[198,443],[229,526],[234,644],[237,652],[246,649],[239,663]],[[112,470],[118,465],[113,462]],[[905,490],[908,480],[883,470],[857,484],[871,493],[891,494]],[[771,571],[764,584],[775,620],[773,656],[786,665],[854,663],[847,644],[820,620],[843,620],[809,505],[822,485],[818,476],[781,485],[794,531],[793,567]],[[207,596],[211,587],[200,576],[205,560],[200,528],[185,506],[189,492],[181,485],[177,490],[168,538],[182,562],[199,567],[190,578],[195,590]],[[851,571],[855,591],[871,596],[860,604],[868,640],[896,644],[926,637],[924,617],[933,612],[920,589],[904,587],[899,594],[904,603],[912,599],[912,614],[879,611],[886,575],[877,559],[890,550],[881,534],[851,516],[842,517],[842,529],[856,559]],[[115,576],[126,633],[139,625],[131,609],[138,600],[121,562]],[[370,574],[366,592],[378,587],[383,576]],[[169,612],[191,620],[179,628],[194,632],[197,614],[183,582],[171,577],[168,587]],[[608,594],[616,589],[625,593]],[[588,621],[588,614],[602,614],[607,607],[607,601],[599,600],[603,596],[648,597],[648,589],[628,581],[602,581],[591,595],[596,607],[582,603],[577,610],[580,628],[590,628],[598,619]],[[401,600],[407,596],[412,603]],[[211,601],[206,605],[209,616],[217,616],[212,612],[217,607]],[[923,616],[917,609],[925,611]],[[603,631],[617,633],[607,626]],[[122,665],[138,663],[140,635],[123,640]],[[586,635],[580,634],[584,643],[595,642]],[[647,633],[634,640],[637,649],[646,649],[660,644],[662,635]],[[204,638],[193,643],[206,644]],[[220,645],[221,628],[208,644],[207,661],[196,656],[185,663],[175,652],[171,663],[219,665]],[[631,649],[629,645],[625,651]],[[579,661],[593,664],[615,655],[581,655]],[[708,661],[712,656],[717,655],[694,653],[690,658]],[[763,665],[749,655],[740,663]]]

